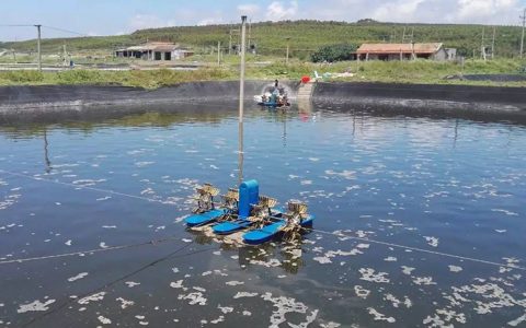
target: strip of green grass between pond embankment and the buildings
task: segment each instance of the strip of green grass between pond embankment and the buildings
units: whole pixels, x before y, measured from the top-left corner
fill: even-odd
[[[205,61],[204,68],[195,71],[130,70],[100,71],[73,69],[61,72],[0,71],[0,85],[42,85],[42,84],[96,84],[126,85],[156,89],[193,81],[225,81],[239,78],[239,58],[231,56],[217,67],[210,62],[213,56],[194,58]],[[210,61],[208,61],[210,60]],[[208,61],[208,62],[206,62]],[[265,63],[271,61],[272,63]],[[496,74],[517,73],[526,62],[499,59],[493,61],[467,60],[464,66],[455,62],[435,61],[346,61],[333,65],[311,63],[291,60],[289,65],[283,59],[249,56],[247,79],[252,80],[299,80],[302,75],[312,75],[313,71],[325,75],[325,81],[386,82],[386,83],[424,83],[424,84],[469,84],[523,86],[526,82],[489,82],[445,79],[458,74]],[[334,73],[351,72],[353,77],[336,78]]]

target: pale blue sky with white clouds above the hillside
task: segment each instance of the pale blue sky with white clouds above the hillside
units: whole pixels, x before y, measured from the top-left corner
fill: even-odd
[[[127,34],[148,27],[252,22],[374,19],[399,23],[518,25],[526,0],[0,0],[0,42],[34,38],[33,25],[83,35]],[[43,37],[72,33],[43,28]]]

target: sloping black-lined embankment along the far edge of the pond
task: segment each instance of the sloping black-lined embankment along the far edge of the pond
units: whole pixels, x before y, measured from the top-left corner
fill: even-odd
[[[285,82],[291,96],[298,82]],[[245,97],[259,94],[271,81],[248,81]],[[0,87],[0,118],[21,119],[59,116],[66,113],[142,113],[173,104],[235,104],[239,82],[209,81],[181,83],[156,90],[126,86],[41,85]],[[333,103],[352,109],[391,114],[491,115],[498,119],[526,122],[526,89],[467,85],[387,84],[320,82],[315,103]]]

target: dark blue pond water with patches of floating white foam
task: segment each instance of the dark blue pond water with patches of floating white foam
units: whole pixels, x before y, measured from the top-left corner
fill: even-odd
[[[524,126],[247,108],[243,176],[317,220],[236,247],[183,219],[237,112],[175,109],[0,128],[0,326],[526,325]]]

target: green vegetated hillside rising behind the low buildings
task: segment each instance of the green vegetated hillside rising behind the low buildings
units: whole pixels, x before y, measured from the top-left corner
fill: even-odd
[[[364,42],[400,43],[404,27],[408,33],[414,28],[414,42],[442,42],[446,47],[458,48],[460,55],[472,57],[473,50],[480,54],[482,30],[487,45],[491,44],[492,26],[447,25],[447,24],[393,24],[374,21],[357,23],[320,21],[262,22],[251,25],[251,43],[262,55],[282,55],[289,37],[291,56],[308,58],[312,51],[331,44],[361,44]],[[136,31],[129,35],[105,37],[50,38],[43,40],[44,54],[58,54],[64,44],[70,51],[110,51],[117,47],[136,45],[150,40],[170,40],[193,47],[197,52],[209,51],[221,42],[228,47],[229,32],[239,25],[180,26]],[[498,26],[495,55],[513,57],[518,52],[521,28]],[[235,37],[236,39],[236,37]],[[35,40],[4,43],[0,48],[14,48],[19,51],[34,51]],[[226,50],[226,48],[225,48]],[[477,55],[478,56],[478,55]]]

